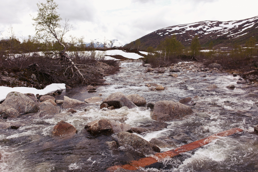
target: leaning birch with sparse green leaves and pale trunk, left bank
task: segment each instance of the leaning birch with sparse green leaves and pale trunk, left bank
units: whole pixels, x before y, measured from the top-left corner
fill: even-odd
[[[33,26],[35,26],[36,29],[36,36],[42,39],[56,39],[58,44],[63,47],[61,51],[53,54],[50,58],[59,54],[59,57],[55,59],[59,59],[60,61],[66,60],[68,64],[70,64],[69,67],[71,67],[73,75],[74,71],[72,68],[74,67],[76,70],[75,73],[82,77],[83,81],[86,81],[76,64],[66,53],[67,47],[64,43],[64,35],[71,30],[72,26],[68,23],[68,20],[63,24],[61,23],[62,18],[60,14],[57,13],[58,4],[55,3],[54,0],[47,0],[45,4],[37,3],[37,6],[37,17],[33,17]]]

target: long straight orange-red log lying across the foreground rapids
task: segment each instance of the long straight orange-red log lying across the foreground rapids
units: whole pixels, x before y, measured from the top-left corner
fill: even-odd
[[[129,164],[122,165],[122,166],[116,165],[116,166],[109,167],[107,168],[107,171],[113,172],[117,169],[137,170],[139,168],[151,167],[151,165],[159,161],[162,161],[165,158],[173,158],[176,155],[179,155],[180,153],[187,152],[187,151],[199,148],[201,146],[204,146],[206,144],[209,144],[213,140],[216,140],[217,138],[230,136],[232,134],[235,134],[237,132],[242,132],[242,131],[243,130],[240,128],[232,128],[163,153],[156,153],[152,157],[141,158],[139,160],[132,161]]]

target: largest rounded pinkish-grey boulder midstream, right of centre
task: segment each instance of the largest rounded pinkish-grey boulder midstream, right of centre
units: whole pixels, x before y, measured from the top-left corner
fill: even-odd
[[[192,109],[184,104],[173,101],[158,101],[154,105],[150,117],[153,120],[165,122],[177,119],[192,113]]]

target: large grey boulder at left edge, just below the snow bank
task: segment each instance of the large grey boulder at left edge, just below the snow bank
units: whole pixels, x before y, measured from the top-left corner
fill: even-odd
[[[26,95],[19,92],[10,92],[1,104],[1,110],[14,108],[20,113],[35,113],[38,111],[37,104]]]

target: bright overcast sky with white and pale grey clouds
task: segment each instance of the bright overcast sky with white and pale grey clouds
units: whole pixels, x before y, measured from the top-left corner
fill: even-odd
[[[16,36],[34,35],[31,16],[34,0],[1,0],[0,31],[6,36],[12,24]],[[39,2],[46,2],[40,0]],[[62,19],[73,28],[67,36],[84,36],[129,43],[155,30],[204,20],[242,20],[258,16],[257,0],[55,0]],[[2,36],[1,36],[2,38]]]

